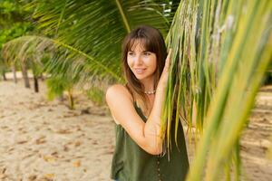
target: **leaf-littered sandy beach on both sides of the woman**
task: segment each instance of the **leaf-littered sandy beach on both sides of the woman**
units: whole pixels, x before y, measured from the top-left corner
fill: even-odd
[[[0,81],[1,181],[109,181],[114,122],[105,106],[79,94],[75,110],[66,101],[48,101],[46,87],[25,89],[23,81]],[[268,181],[272,132],[272,87],[259,92],[257,107],[243,132],[244,177]],[[192,150],[188,148],[192,159]]]

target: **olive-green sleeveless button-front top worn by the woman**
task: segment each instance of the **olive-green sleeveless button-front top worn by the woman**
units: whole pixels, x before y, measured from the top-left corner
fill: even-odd
[[[141,109],[136,104],[134,107],[141,119],[146,122],[147,119]],[[174,124],[172,124],[170,154],[155,156],[140,148],[121,125],[116,124],[116,146],[112,157],[111,178],[118,181],[185,180],[189,170],[189,160],[180,121],[178,148],[175,142],[174,128]]]

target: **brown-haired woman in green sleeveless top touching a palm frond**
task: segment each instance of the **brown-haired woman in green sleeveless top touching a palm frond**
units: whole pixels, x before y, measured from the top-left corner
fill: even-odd
[[[106,100],[116,122],[112,179],[118,181],[182,181],[189,168],[183,129],[178,145],[171,132],[170,153],[160,140],[160,118],[169,76],[170,52],[160,32],[142,25],[122,44],[127,83],[112,85]],[[170,156],[170,157],[169,157]]]

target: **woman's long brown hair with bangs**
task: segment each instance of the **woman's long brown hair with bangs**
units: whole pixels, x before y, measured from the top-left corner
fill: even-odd
[[[141,84],[133,72],[131,71],[128,62],[127,54],[136,41],[140,41],[142,47],[149,52],[154,52],[157,58],[157,68],[155,73],[155,87],[157,88],[158,82],[160,80],[161,72],[163,71],[165,59],[167,56],[166,46],[163,40],[163,36],[160,31],[156,28],[147,25],[141,25],[129,33],[123,43],[122,43],[122,69],[124,72],[125,79],[127,81],[126,87],[130,90],[133,100],[136,104],[141,107],[144,112],[147,110],[147,105],[145,102],[147,97],[144,94],[144,87]]]

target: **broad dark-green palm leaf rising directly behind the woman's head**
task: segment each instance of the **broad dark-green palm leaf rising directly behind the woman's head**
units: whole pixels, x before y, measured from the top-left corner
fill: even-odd
[[[113,76],[115,80],[122,81],[119,61],[121,41],[131,28],[138,24],[150,24],[164,34],[168,31],[171,16],[166,18],[162,14],[160,2],[163,1],[61,0],[48,4],[47,1],[34,0],[29,7],[36,7],[34,18],[39,20],[45,33],[53,35],[55,42],[73,50],[67,52],[72,60],[77,59],[79,53],[87,57],[83,63],[84,70],[90,69],[97,76],[105,72],[112,74],[112,71],[119,76],[119,79]],[[73,62],[73,65],[76,66],[76,63],[81,62]],[[88,80],[90,74],[82,73],[81,77]]]

